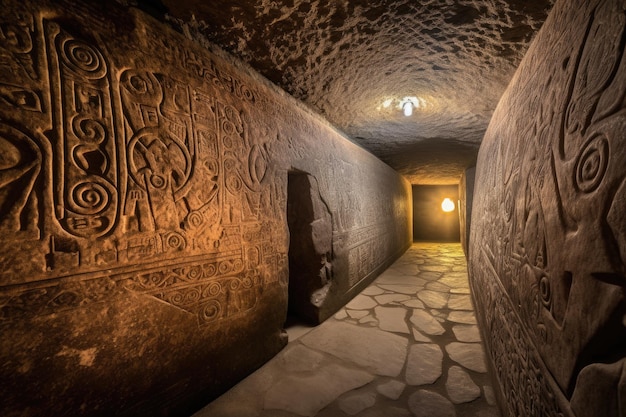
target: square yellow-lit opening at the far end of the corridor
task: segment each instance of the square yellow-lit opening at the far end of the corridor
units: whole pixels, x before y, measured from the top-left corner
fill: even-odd
[[[442,203],[449,198],[454,209],[445,212]],[[460,242],[458,185],[413,186],[413,240]]]

